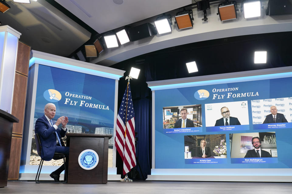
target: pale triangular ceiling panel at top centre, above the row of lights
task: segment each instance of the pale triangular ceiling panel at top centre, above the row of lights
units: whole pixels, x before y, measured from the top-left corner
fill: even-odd
[[[192,3],[192,0],[55,0],[98,33]],[[114,2],[123,2],[118,5]]]

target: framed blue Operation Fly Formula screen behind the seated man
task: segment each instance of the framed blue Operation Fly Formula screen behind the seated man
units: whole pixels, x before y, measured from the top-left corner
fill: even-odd
[[[54,121],[68,117],[67,133],[115,135],[118,80],[124,71],[33,51],[30,59],[26,115],[22,144],[20,180],[34,180],[40,163],[34,139],[35,122],[44,105],[56,106]],[[67,137],[62,138],[64,144]],[[114,138],[109,139],[108,180],[116,175]],[[58,160],[43,162],[41,179],[62,165]],[[61,174],[63,176],[64,174]]]

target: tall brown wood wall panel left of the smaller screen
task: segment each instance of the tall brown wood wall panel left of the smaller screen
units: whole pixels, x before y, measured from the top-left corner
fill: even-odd
[[[11,114],[19,119],[19,123],[13,124],[8,180],[19,179],[29,60],[30,46],[23,42],[18,42]]]

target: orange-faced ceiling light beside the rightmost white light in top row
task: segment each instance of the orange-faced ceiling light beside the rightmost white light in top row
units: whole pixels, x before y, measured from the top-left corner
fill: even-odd
[[[218,4],[217,15],[219,15],[221,21],[236,19],[236,11],[238,11],[236,1],[229,2],[226,0],[225,2]]]

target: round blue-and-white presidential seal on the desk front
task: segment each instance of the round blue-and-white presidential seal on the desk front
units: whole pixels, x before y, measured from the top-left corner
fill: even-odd
[[[99,162],[97,153],[92,149],[83,150],[78,157],[79,166],[85,170],[94,169]]]

